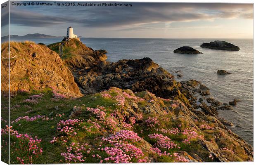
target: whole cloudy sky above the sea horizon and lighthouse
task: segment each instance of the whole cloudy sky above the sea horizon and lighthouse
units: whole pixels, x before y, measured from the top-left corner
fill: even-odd
[[[85,7],[75,3],[10,5],[10,34],[64,36],[72,26],[76,35],[95,38],[253,38],[253,4],[117,2],[132,6]],[[5,29],[8,21],[1,12]]]

